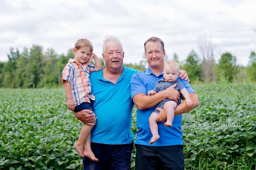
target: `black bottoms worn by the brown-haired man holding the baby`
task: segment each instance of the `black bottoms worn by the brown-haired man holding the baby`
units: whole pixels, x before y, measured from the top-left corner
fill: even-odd
[[[135,170],[184,170],[183,145],[135,147]]]

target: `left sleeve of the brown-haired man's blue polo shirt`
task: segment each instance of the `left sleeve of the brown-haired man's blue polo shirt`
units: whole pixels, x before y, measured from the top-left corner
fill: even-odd
[[[147,89],[146,89],[145,85],[143,84],[143,82],[141,81],[139,74],[140,73],[135,73],[135,74],[133,74],[133,76],[131,78],[131,96],[132,96],[132,98],[133,98],[133,96],[135,96],[136,94],[139,94],[139,93],[148,94]]]

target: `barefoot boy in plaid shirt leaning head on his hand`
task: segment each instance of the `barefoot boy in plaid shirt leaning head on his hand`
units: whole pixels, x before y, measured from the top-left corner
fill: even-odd
[[[91,92],[90,73],[100,71],[102,64],[95,53],[92,53],[93,46],[91,41],[80,39],[76,41],[73,53],[74,59],[69,59],[68,64],[62,71],[62,83],[64,84],[67,95],[68,109],[79,112],[84,109],[92,110],[90,100],[95,100]],[[89,63],[94,59],[95,64]],[[93,122],[94,124],[96,123]],[[91,130],[93,126],[83,123],[80,136],[75,144],[78,154],[82,157],[88,157],[93,161],[98,161],[91,150]],[[85,143],[85,144],[84,144]]]

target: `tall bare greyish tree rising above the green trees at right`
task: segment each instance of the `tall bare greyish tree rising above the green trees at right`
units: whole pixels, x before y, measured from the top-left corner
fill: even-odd
[[[204,37],[199,37],[197,40],[197,45],[198,48],[200,49],[201,55],[203,57],[202,61],[202,68],[203,68],[203,75],[202,79],[206,82],[210,81],[215,81],[214,80],[214,72],[213,72],[213,67],[214,67],[214,49],[215,45],[213,41],[207,40]]]

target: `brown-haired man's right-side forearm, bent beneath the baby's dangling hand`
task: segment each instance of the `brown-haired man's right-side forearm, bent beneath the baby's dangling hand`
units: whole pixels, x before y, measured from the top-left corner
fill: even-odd
[[[190,99],[193,101],[192,107],[188,107],[186,104],[186,101],[183,100],[179,106],[177,106],[174,109],[174,116],[183,114],[183,113],[187,113],[190,110],[196,108],[197,106],[199,106],[199,100],[198,97],[196,95],[196,93],[189,93]]]

